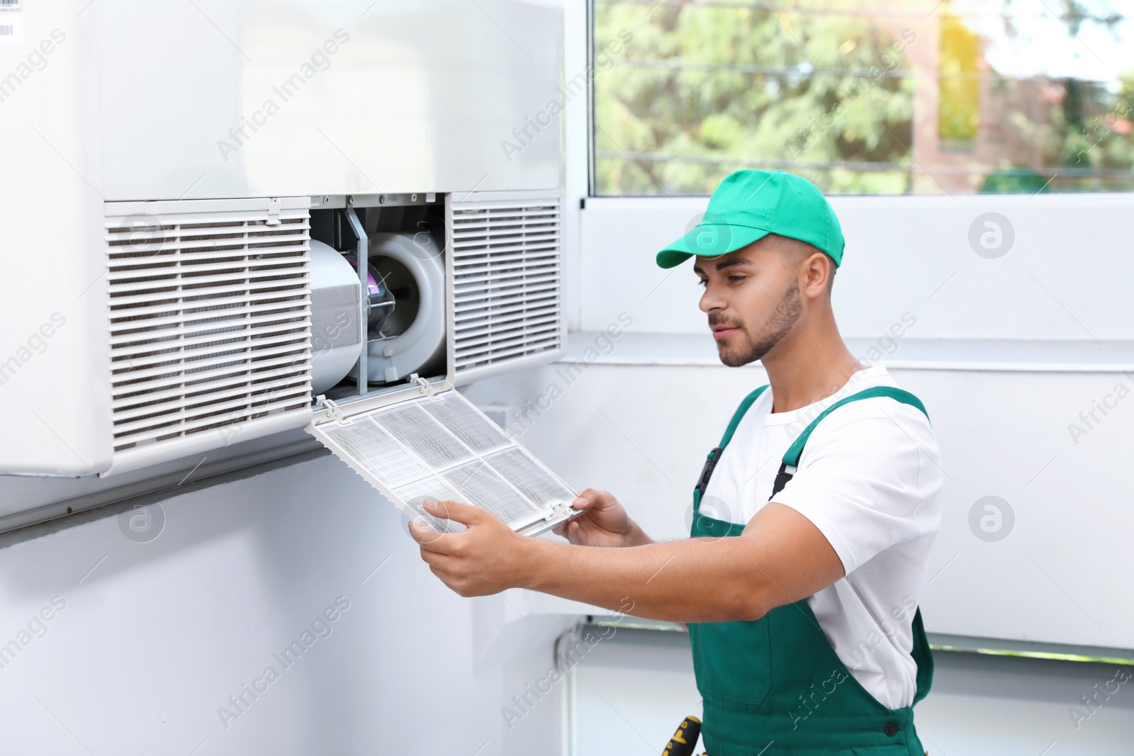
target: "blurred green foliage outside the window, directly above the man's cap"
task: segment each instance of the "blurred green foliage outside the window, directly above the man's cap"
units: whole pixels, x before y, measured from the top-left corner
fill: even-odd
[[[712,6],[661,5],[643,23],[649,8],[595,6],[595,49],[619,28],[634,32],[625,58],[594,79],[601,194],[708,194],[753,167],[841,194],[908,190],[913,82],[882,68],[895,42],[885,29],[853,16],[777,20],[759,8]],[[908,74],[889,54],[890,68]],[[871,67],[887,75],[871,78]],[[840,105],[841,117],[829,116]],[[849,162],[878,170],[812,167]]]

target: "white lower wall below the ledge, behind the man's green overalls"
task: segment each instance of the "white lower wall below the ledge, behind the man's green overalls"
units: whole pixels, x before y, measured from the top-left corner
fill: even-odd
[[[914,716],[934,756],[1131,750],[1134,693],[1132,682],[1107,685],[1114,665],[963,653],[937,653],[934,662],[933,690]],[[587,756],[659,754],[682,719],[701,712],[685,634],[619,629],[586,654],[576,678],[578,753]],[[1067,710],[1095,685],[1118,693],[1099,696],[1101,707],[1076,727]]]

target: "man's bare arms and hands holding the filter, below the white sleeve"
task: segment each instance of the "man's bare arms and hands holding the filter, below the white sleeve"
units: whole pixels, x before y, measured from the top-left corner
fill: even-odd
[[[582,498],[579,541],[592,547],[518,535],[483,509],[451,501],[430,502],[425,511],[467,530],[437,533],[411,523],[409,533],[430,570],[462,596],[527,588],[612,611],[626,611],[629,601],[635,617],[672,622],[756,620],[844,576],[822,532],[775,501],[737,537],[638,545],[635,538],[645,535],[610,494]],[[593,547],[600,540],[635,547]]]

